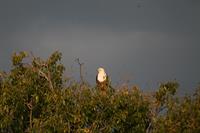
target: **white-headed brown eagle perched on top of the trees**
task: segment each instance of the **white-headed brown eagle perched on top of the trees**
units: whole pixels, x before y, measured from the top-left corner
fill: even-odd
[[[107,92],[109,87],[109,77],[102,67],[97,69],[96,84],[100,91]]]

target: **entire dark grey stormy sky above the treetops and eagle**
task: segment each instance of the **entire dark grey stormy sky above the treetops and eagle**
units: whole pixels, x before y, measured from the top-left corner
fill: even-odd
[[[115,84],[176,79],[190,92],[200,82],[200,1],[1,0],[0,69],[22,50],[61,51],[75,77],[79,57],[92,84],[102,66]]]

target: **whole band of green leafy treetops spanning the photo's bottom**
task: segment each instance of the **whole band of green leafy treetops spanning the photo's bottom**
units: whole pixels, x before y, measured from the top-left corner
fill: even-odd
[[[0,72],[0,132],[200,132],[200,89],[178,98],[178,83],[167,82],[155,94],[136,87],[102,94],[64,80],[61,56],[13,55],[12,69]]]

